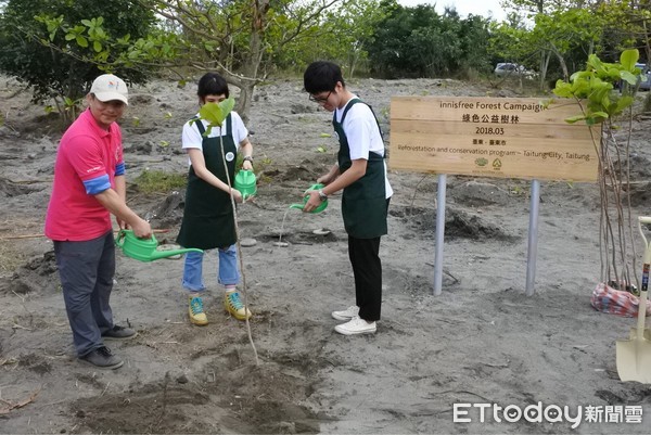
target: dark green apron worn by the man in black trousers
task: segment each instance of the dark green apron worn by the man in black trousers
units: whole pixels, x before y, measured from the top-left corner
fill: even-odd
[[[350,100],[340,123],[336,121],[336,113],[332,117],[332,125],[340,141],[337,161],[341,174],[345,172],[353,164],[343,125],[346,114],[357,103],[361,103],[361,100]],[[378,129],[380,129],[379,124]],[[357,239],[374,239],[386,234],[386,210],[384,156],[369,152],[366,174],[353,184],[344,188],[342,195],[342,216],[346,232]]]

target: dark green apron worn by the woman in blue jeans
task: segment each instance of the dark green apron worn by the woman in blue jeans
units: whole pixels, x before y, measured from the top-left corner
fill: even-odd
[[[200,119],[196,119],[195,126],[203,136],[205,128]],[[204,137],[202,148],[206,168],[228,184],[224,168],[224,156],[227,156],[226,163],[232,183],[235,177],[235,158],[238,155],[238,148],[231,133],[230,114],[226,118],[226,131],[227,133],[221,137],[221,140],[219,137]],[[224,145],[224,151],[221,145]],[[235,222],[230,195],[199,178],[194,172],[194,168],[190,166],[183,221],[181,222],[177,243],[183,247],[212,250],[228,247],[235,242]]]

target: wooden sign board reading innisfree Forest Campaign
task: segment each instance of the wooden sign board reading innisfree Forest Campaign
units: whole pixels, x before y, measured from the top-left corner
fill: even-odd
[[[598,154],[577,102],[394,97],[392,169],[477,177],[595,181]],[[599,143],[598,128],[593,128]]]

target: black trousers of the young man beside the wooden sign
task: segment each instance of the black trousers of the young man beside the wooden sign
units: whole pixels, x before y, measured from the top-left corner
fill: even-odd
[[[348,235],[348,257],[355,276],[355,298],[359,317],[380,320],[382,308],[382,261],[380,238],[356,239]]]

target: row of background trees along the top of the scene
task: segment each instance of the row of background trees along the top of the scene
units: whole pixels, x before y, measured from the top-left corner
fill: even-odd
[[[317,59],[381,77],[490,74],[510,61],[569,77],[591,53],[649,52],[648,0],[508,0],[506,23],[397,0],[0,0],[0,71],[35,99],[74,102],[104,71],[142,82],[217,71],[240,88],[246,118],[257,84]],[[578,7],[584,9],[578,9]],[[1,10],[1,9],[0,9]],[[647,55],[648,60],[648,55]]]

